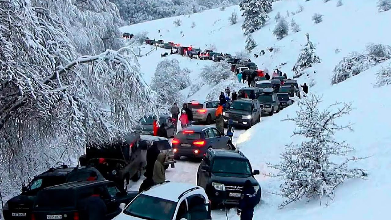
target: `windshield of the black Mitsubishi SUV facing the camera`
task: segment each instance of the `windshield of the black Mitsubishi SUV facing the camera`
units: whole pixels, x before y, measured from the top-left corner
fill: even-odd
[[[251,175],[250,163],[244,159],[215,158],[212,173]]]

